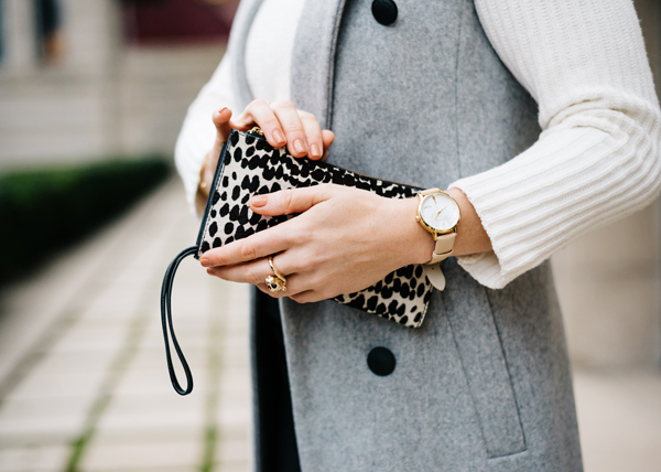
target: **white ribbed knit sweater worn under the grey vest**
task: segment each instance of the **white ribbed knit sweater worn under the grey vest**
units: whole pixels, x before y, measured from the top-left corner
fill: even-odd
[[[290,97],[290,62],[304,0],[264,0],[247,43],[256,98]],[[494,250],[459,257],[502,288],[576,236],[636,212],[661,186],[661,111],[630,0],[476,0],[491,44],[539,105],[527,151],[460,179]],[[278,37],[278,41],[273,39]],[[191,207],[210,150],[210,115],[236,114],[227,56],[188,110],[175,159]],[[266,79],[268,78],[268,79]],[[614,248],[617,250],[617,248]]]

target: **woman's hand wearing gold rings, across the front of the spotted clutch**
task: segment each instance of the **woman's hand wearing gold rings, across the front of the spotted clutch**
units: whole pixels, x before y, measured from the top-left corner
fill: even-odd
[[[201,259],[209,275],[256,285],[273,297],[304,303],[362,290],[393,270],[425,262],[434,243],[415,222],[418,199],[392,200],[334,184],[256,195],[261,215],[301,213],[248,238],[210,249]],[[271,293],[267,257],[286,277]]]

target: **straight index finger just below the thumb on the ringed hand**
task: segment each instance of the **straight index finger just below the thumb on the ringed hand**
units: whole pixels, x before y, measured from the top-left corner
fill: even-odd
[[[282,253],[293,244],[290,223],[284,222],[226,246],[209,249],[199,258],[203,267],[221,267]]]

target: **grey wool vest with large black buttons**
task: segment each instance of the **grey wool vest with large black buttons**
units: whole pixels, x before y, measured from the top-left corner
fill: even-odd
[[[245,42],[259,4],[243,1],[230,42],[243,105],[252,99]],[[304,8],[292,100],[335,131],[328,161],[445,187],[530,147],[537,105],[491,47],[473,1],[397,4],[390,26],[375,21],[371,0]],[[443,271],[447,287],[420,329],[333,301],[284,300],[303,472],[582,470],[549,264],[502,290],[480,286],[454,259]],[[376,346],[394,354],[392,374],[369,369]]]

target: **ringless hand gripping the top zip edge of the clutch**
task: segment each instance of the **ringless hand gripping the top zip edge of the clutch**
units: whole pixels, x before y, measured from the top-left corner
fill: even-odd
[[[291,101],[268,104],[263,100],[253,100],[236,119],[230,118],[229,108],[214,111],[212,117],[216,126],[216,140],[203,171],[207,189],[212,186],[220,150],[232,128],[247,131],[257,125],[272,147],[286,146],[294,158],[307,155],[312,160],[323,159],[335,139],[333,131],[322,130],[314,115],[296,109]]]

